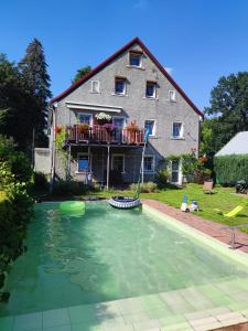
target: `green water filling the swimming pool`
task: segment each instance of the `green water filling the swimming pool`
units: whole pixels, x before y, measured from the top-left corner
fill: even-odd
[[[237,264],[153,218],[105,202],[87,203],[80,217],[62,215],[58,203],[36,204],[0,316],[247,278]]]

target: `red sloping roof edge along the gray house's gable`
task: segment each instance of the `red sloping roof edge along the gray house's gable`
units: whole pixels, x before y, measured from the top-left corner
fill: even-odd
[[[204,116],[203,113],[186,96],[186,94],[182,90],[182,88],[169,75],[169,73],[165,71],[165,68],[159,63],[159,61],[154,57],[154,55],[152,55],[152,53],[147,49],[147,46],[141,42],[141,40],[139,38],[134,38],[128,44],[126,44],[123,47],[121,47],[119,51],[117,51],[115,54],[112,54],[107,60],[105,60],[99,65],[97,65],[95,68],[93,68],[89,73],[87,73],[85,76],[83,76],[76,83],[74,83],[72,86],[69,86],[67,89],[65,89],[63,93],[61,93],[58,96],[56,96],[55,98],[53,98],[51,100],[51,104],[54,104],[54,103],[60,102],[61,99],[63,99],[65,96],[67,96],[69,93],[72,93],[74,89],[76,89],[78,86],[80,86],[85,82],[87,82],[90,77],[93,77],[95,74],[97,74],[99,71],[101,71],[105,66],[107,66],[109,63],[111,63],[114,60],[116,60],[119,55],[121,55],[123,52],[126,52],[128,49],[130,49],[134,44],[138,44],[142,49],[142,51],[159,67],[159,70],[161,71],[161,73],[168,78],[168,81],[181,94],[181,96],[186,100],[186,103],[195,110],[195,113],[197,113],[200,116],[203,117]]]

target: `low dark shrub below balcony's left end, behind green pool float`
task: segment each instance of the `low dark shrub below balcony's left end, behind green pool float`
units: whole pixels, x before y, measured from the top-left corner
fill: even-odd
[[[86,194],[88,186],[77,181],[56,181],[53,188],[53,194],[57,196]]]

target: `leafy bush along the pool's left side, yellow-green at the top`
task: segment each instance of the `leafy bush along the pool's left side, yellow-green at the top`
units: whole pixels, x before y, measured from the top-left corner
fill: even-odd
[[[7,140],[7,143],[11,147],[10,141]],[[23,171],[26,160],[22,153],[14,152],[13,149],[11,152],[9,158],[8,151],[3,152],[1,148],[0,190],[4,192],[4,197],[0,201],[0,289],[4,285],[9,264],[25,250],[23,238],[33,206],[33,201],[28,194],[31,178]],[[14,174],[12,169],[17,160],[24,166],[15,167]],[[23,172],[19,172],[20,170]],[[8,298],[8,292],[0,292],[0,301]]]

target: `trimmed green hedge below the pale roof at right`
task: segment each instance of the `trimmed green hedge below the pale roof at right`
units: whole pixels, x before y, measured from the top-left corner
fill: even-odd
[[[248,181],[248,154],[215,157],[214,167],[219,184],[234,184]]]

